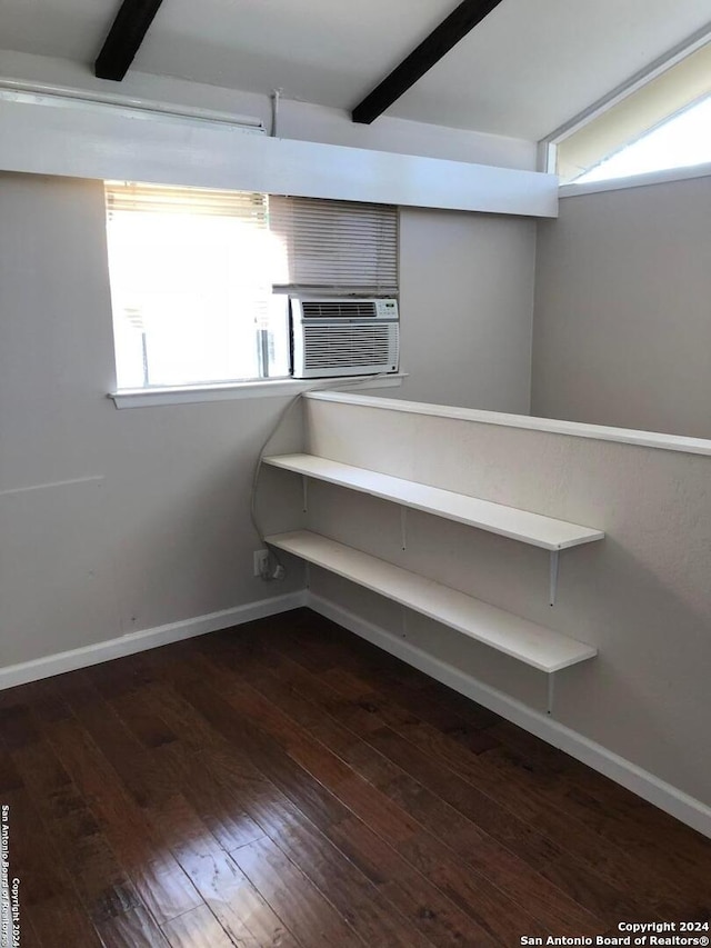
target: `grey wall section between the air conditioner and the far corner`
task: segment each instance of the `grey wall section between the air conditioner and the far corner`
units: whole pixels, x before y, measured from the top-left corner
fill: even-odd
[[[528,412],[535,222],[401,211],[402,368],[389,395]]]

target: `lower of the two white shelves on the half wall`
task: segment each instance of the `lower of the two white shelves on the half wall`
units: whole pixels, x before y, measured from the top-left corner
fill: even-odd
[[[297,530],[267,537],[267,542],[442,622],[540,671],[559,671],[570,665],[594,658],[598,653],[595,648],[585,642],[562,636],[319,533]]]

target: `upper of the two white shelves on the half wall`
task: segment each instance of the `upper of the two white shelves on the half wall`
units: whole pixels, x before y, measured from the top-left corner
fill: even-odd
[[[604,537],[601,530],[591,527],[568,523],[565,520],[555,520],[515,507],[505,507],[503,503],[492,503],[490,500],[480,500],[477,497],[342,465],[313,455],[281,455],[264,458],[264,463],[361,493],[370,493],[383,500],[392,500],[403,507],[423,510],[447,520],[457,520],[551,552],[602,540]]]

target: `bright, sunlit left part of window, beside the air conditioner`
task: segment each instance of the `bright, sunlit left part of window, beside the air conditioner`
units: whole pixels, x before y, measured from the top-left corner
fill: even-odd
[[[266,194],[107,183],[119,389],[289,372]]]

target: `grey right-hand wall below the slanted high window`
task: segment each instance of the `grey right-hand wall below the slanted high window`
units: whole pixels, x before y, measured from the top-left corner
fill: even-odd
[[[711,178],[563,198],[541,222],[532,412],[711,438]]]

